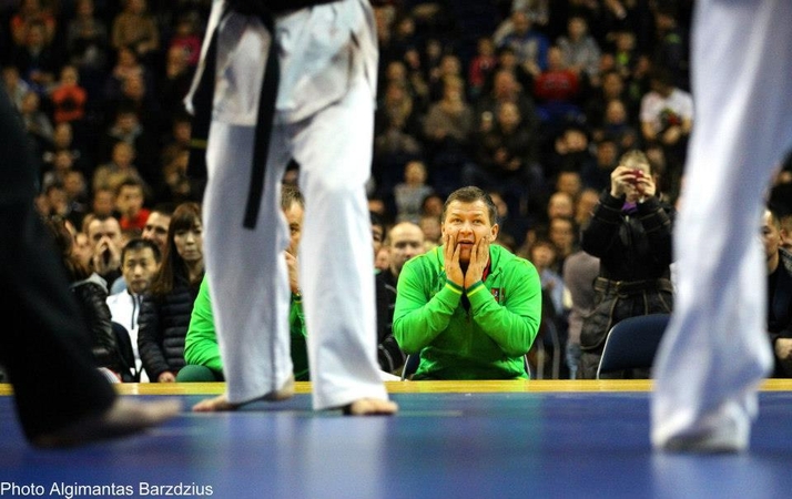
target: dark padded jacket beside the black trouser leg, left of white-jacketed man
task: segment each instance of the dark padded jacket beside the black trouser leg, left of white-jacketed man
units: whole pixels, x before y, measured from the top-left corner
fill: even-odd
[[[121,373],[121,354],[113,333],[110,307],[108,306],[108,288],[97,275],[71,284],[71,291],[80,304],[91,333],[91,350],[98,367],[106,367],[114,373]]]

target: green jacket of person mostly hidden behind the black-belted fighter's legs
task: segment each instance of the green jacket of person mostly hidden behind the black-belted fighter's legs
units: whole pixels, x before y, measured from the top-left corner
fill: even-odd
[[[305,346],[305,317],[303,316],[303,304],[295,296],[292,296],[288,325],[292,336],[294,379],[306,381],[308,380],[308,353]],[[190,317],[190,328],[184,340],[184,360],[187,364],[206,366],[217,373],[223,371],[220,345],[217,345],[217,335],[214,330],[212,299],[209,296],[209,277],[205,275]]]

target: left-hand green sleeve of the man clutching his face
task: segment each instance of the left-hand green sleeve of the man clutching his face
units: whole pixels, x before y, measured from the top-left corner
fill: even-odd
[[[444,283],[434,296],[435,283]],[[459,306],[461,287],[431,267],[427,255],[408,261],[396,288],[393,332],[406,354],[417,354],[443,333]]]

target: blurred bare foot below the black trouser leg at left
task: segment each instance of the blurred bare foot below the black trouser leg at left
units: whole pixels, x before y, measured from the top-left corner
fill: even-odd
[[[138,401],[116,398],[112,406],[100,415],[85,416],[65,428],[34,437],[37,447],[74,447],[97,440],[136,434],[171,419],[181,410],[176,399]]]

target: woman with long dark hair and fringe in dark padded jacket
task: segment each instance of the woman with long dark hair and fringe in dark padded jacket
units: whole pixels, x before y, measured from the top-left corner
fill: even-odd
[[[149,379],[173,383],[184,367],[184,339],[204,275],[201,206],[176,207],[167,246],[139,316],[138,348]]]

